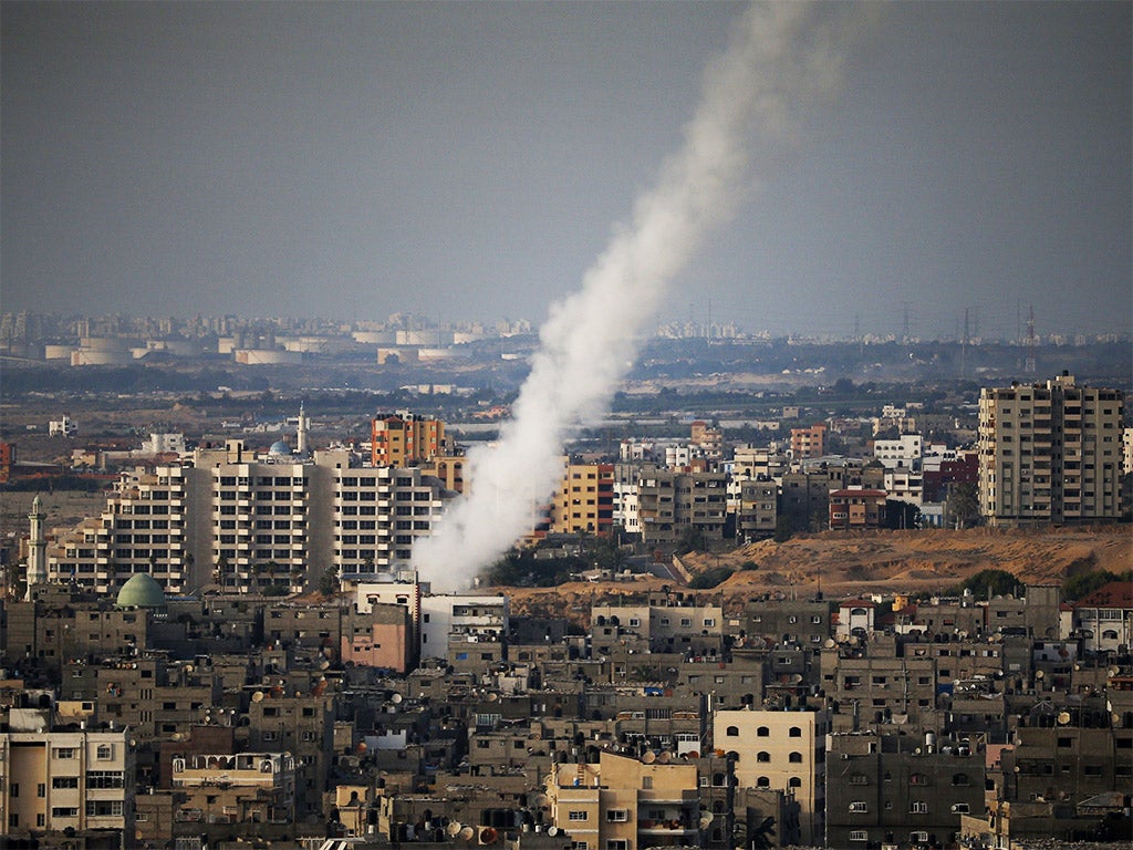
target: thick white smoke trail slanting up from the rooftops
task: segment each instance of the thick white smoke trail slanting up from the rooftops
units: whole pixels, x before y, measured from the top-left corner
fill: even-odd
[[[469,452],[470,492],[434,536],[418,541],[414,563],[435,590],[467,587],[530,530],[533,505],[561,479],[564,439],[605,411],[666,286],[751,187],[753,146],[785,152],[794,112],[841,79],[840,44],[853,27],[835,16],[845,9],[782,0],[744,12],[708,68],[682,148],[638,198],[582,288],[552,307],[512,418],[496,443]]]

